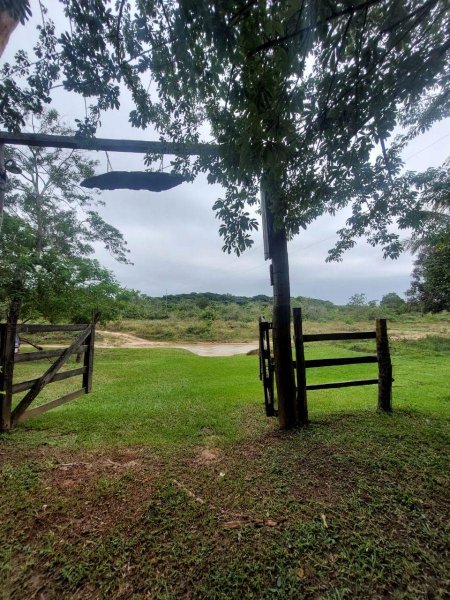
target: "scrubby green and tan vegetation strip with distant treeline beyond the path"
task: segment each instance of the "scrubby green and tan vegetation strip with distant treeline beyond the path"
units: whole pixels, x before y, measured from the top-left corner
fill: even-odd
[[[326,300],[297,297],[292,306],[302,308],[305,331],[362,331],[372,329],[376,318],[387,318],[390,333],[423,337],[450,334],[450,314],[423,315],[397,294],[387,294],[378,304],[356,294],[343,306]],[[390,301],[389,301],[390,300]],[[258,318],[272,318],[272,299],[230,294],[179,294],[152,298],[128,292],[121,318],[102,329],[131,333],[155,341],[247,342],[258,338]]]

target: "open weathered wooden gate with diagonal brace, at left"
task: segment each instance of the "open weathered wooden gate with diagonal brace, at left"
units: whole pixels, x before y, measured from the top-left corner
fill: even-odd
[[[42,350],[38,352],[15,353],[16,336],[23,333],[80,332],[68,348]],[[18,421],[39,415],[61,406],[92,388],[94,364],[95,320],[83,325],[18,325],[15,322],[0,324],[0,431],[8,431]],[[83,366],[69,371],[58,372],[73,355],[84,355]],[[55,358],[49,368],[36,379],[14,383],[14,367],[18,363]],[[49,383],[63,381],[71,377],[82,377],[81,387],[74,392],[29,409],[31,403]],[[20,402],[12,409],[14,394],[28,390]]]

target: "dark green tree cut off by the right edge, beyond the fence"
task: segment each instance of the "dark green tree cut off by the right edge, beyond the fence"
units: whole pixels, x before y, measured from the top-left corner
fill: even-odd
[[[407,296],[424,312],[450,311],[450,228],[422,245]]]

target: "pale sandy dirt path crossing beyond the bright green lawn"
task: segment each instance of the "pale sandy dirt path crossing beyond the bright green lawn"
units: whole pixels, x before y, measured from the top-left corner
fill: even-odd
[[[97,331],[101,336],[101,339],[96,341],[97,348],[182,348],[199,356],[233,356],[234,354],[247,354],[250,350],[258,348],[258,342],[177,344],[176,342],[151,342],[119,331]]]

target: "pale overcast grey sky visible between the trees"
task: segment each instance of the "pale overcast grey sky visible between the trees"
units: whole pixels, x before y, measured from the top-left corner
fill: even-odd
[[[17,50],[32,47],[37,0],[31,0],[31,8],[32,19],[16,28],[0,63],[12,61]],[[58,15],[52,18],[58,22]],[[68,124],[84,116],[82,99],[62,90],[56,91],[53,107]],[[157,140],[153,130],[131,127],[130,109],[131,102],[124,97],[119,111],[102,117],[97,136]],[[450,154],[449,148],[450,119],[447,119],[411,142],[404,153],[405,166],[410,170],[438,166]],[[105,172],[105,154],[91,154],[100,161],[97,172]],[[109,158],[115,170],[145,168],[140,155],[110,153]],[[168,163],[169,158],[165,164]],[[151,296],[207,291],[270,296],[269,261],[264,261],[260,230],[253,237],[251,250],[241,257],[222,252],[220,223],[212,206],[223,194],[220,186],[207,183],[205,175],[161,193],[104,191],[101,199],[105,206],[99,212],[124,234],[133,265],[117,263],[100,246],[96,247],[95,256],[115,273],[123,286]],[[361,241],[344,255],[343,262],[325,262],[327,251],[337,241],[335,232],[345,225],[349,214],[349,209],[345,209],[334,217],[323,216],[289,242],[292,296],[345,304],[355,293],[366,294],[368,300],[380,300],[389,292],[404,295],[410,285],[414,260],[408,253],[397,260],[384,260],[381,248],[372,248]],[[407,237],[407,232],[402,235]]]

